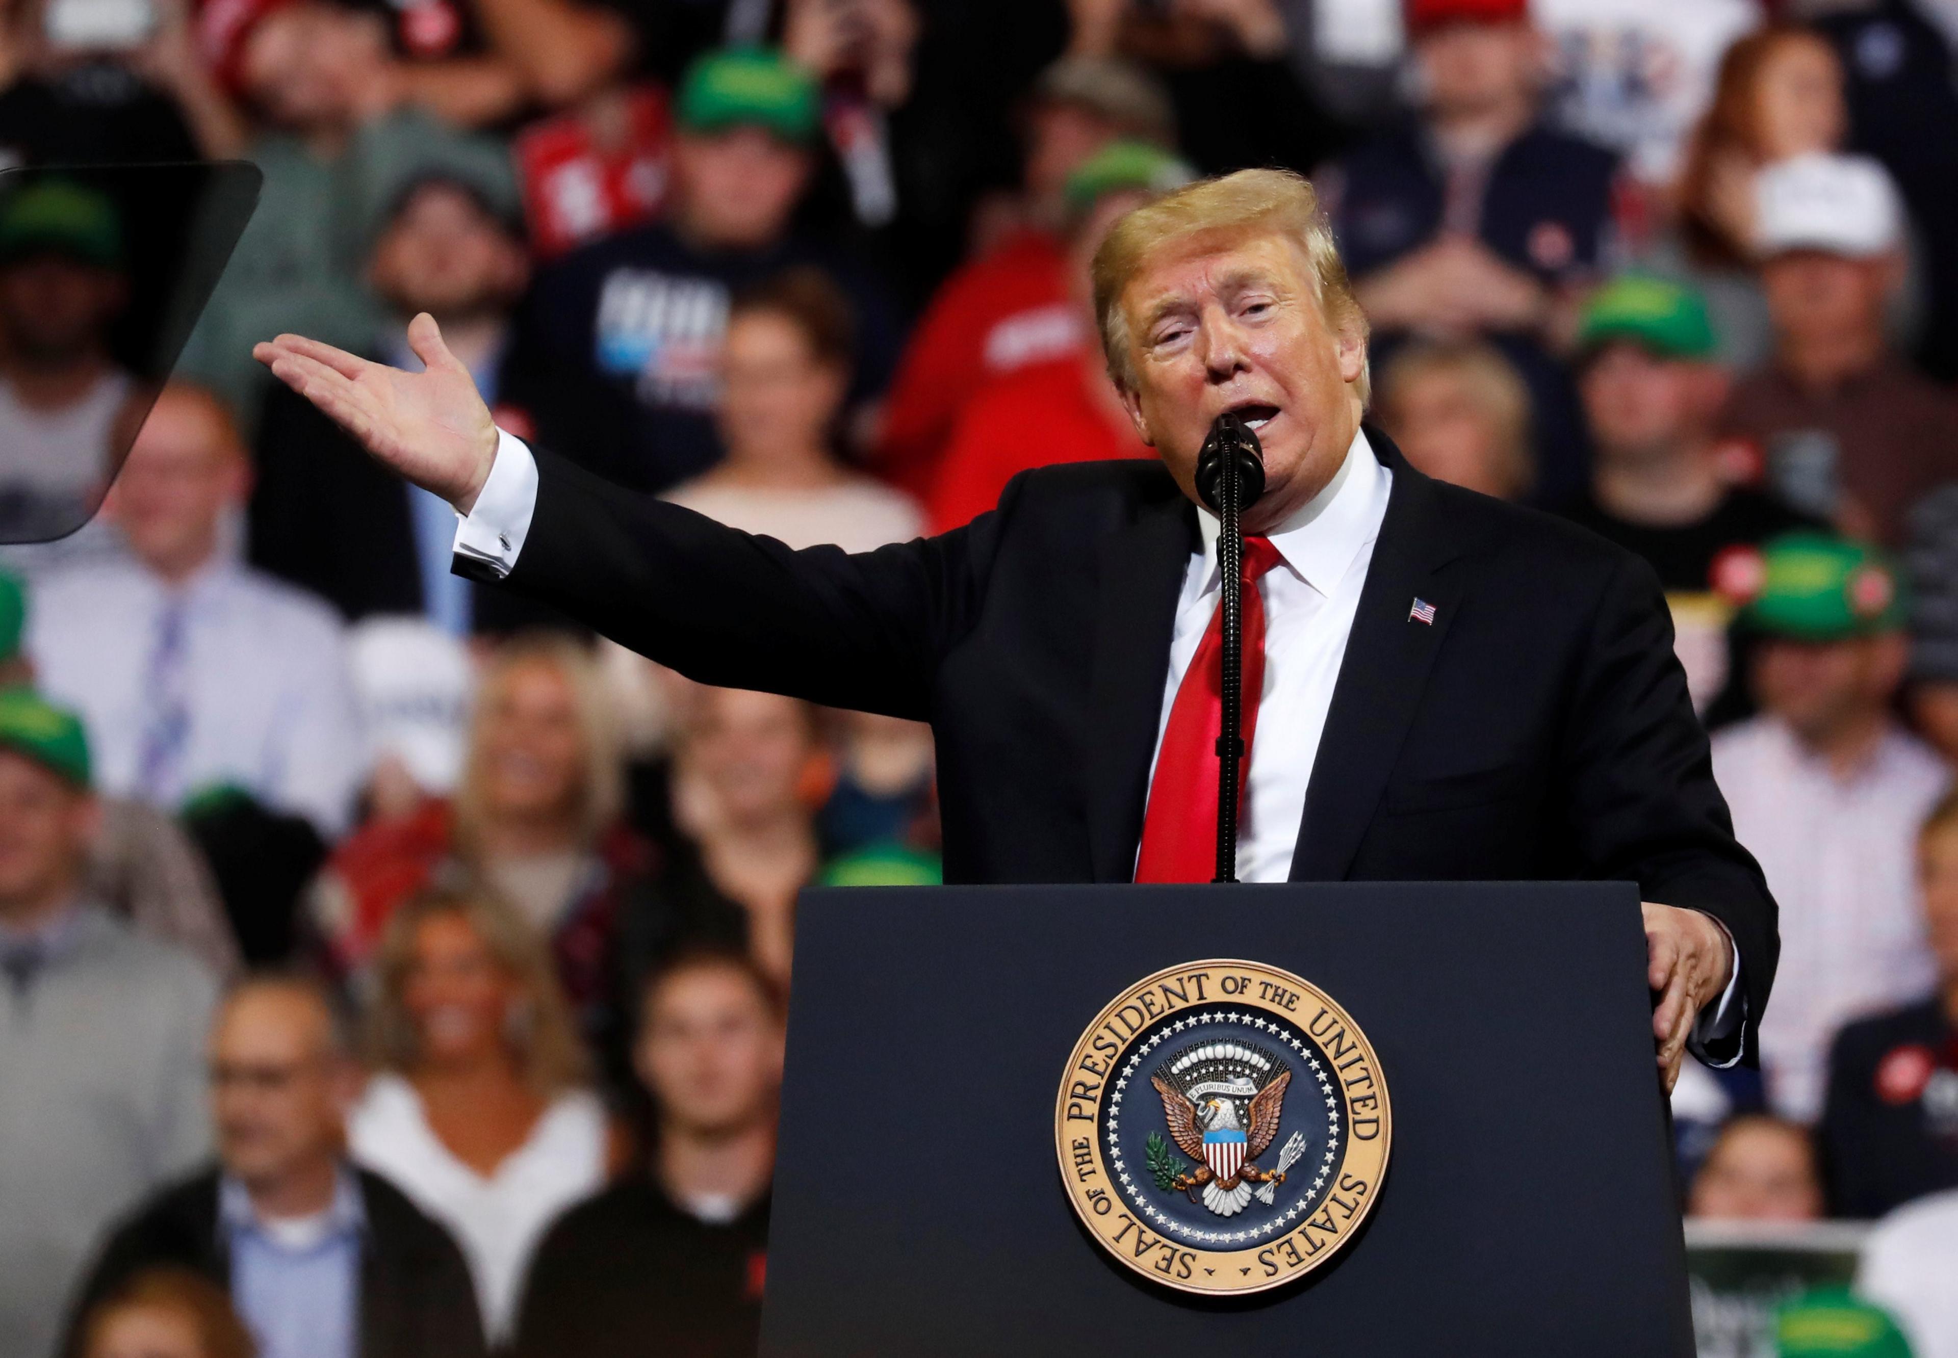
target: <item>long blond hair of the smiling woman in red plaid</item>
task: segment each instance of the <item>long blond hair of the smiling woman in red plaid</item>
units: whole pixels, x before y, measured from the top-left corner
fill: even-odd
[[[456,783],[456,845],[462,857],[478,857],[490,808],[484,806],[484,732],[503,689],[517,671],[531,665],[556,669],[572,691],[578,708],[578,730],[583,734],[583,771],[578,796],[578,832],[582,843],[595,843],[625,806],[625,769],[619,730],[613,720],[611,695],[589,652],[576,640],[556,632],[531,632],[505,642],[484,669],[470,716],[470,749],[462,779]]]

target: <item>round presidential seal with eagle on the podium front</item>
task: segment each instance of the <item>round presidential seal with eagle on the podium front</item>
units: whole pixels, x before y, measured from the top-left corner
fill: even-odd
[[[1181,1291],[1263,1291],[1333,1258],[1373,1209],[1390,1139],[1367,1035],[1310,982],[1243,961],[1118,994],[1053,1106],[1081,1221]]]

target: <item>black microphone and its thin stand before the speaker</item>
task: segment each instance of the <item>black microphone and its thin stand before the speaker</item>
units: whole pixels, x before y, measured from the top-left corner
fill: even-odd
[[[1265,493],[1265,450],[1237,415],[1218,415],[1196,456],[1196,493],[1218,517],[1224,611],[1224,724],[1218,732],[1218,875],[1237,881],[1237,769],[1243,765],[1243,511]]]

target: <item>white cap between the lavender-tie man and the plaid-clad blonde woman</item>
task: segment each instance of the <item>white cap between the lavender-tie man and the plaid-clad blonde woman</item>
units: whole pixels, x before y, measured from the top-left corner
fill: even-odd
[[[366,618],[347,640],[368,755],[397,757],[425,792],[452,792],[468,746],[468,648],[413,616]]]

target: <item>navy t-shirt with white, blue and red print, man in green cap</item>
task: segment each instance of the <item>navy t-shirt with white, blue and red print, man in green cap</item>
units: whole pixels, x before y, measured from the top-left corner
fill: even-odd
[[[793,237],[762,250],[699,250],[660,223],[574,250],[533,284],[509,362],[536,393],[538,436],[634,489],[705,472],[721,458],[713,409],[728,303],[791,266],[826,270],[850,297],[850,401],[879,395],[903,333],[867,270]]]

